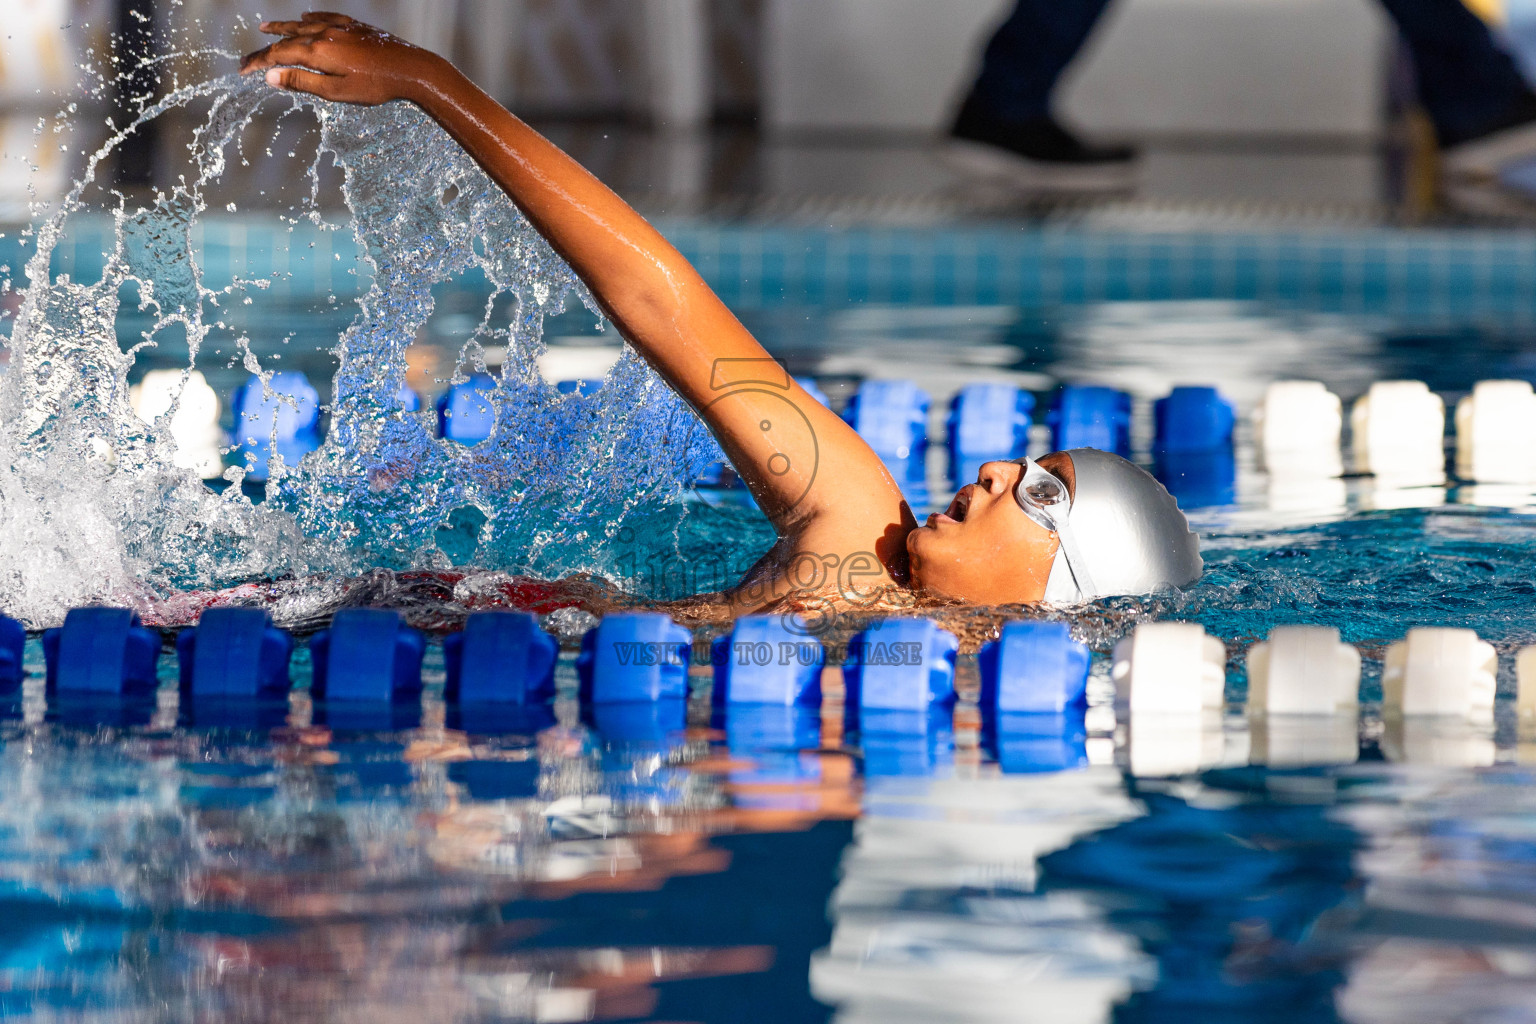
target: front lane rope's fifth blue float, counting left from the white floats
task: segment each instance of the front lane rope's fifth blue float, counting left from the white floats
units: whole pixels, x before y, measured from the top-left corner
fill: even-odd
[[[444,700],[535,705],[554,695],[561,645],[525,611],[478,611],[442,640]]]

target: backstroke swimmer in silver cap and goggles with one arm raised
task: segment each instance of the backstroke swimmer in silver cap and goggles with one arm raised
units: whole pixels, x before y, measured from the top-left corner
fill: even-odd
[[[919,525],[880,457],[800,388],[645,218],[445,58],[310,12],[241,61],[278,89],[419,106],[587,282],[619,333],[708,424],[779,542],[728,600],[900,588],[969,605],[1078,603],[1183,586],[1198,542],[1144,470],[1094,450],[988,462]]]

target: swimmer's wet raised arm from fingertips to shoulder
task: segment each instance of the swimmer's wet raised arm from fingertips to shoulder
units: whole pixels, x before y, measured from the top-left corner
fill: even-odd
[[[902,571],[905,545],[891,537],[915,524],[885,465],[624,200],[436,54],[339,14],[261,29],[283,38],[247,57],[243,74],[344,103],[410,100],[438,121],[699,410],[791,547],[809,531],[820,545],[880,550],[886,568]]]

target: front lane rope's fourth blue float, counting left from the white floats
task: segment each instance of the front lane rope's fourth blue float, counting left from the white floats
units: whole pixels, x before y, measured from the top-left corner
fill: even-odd
[[[684,700],[693,634],[659,611],[608,616],[576,656],[581,699],[590,703]]]

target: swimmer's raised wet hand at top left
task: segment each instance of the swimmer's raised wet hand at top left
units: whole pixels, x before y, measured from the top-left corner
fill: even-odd
[[[240,74],[266,72],[267,84],[323,100],[376,106],[421,100],[452,64],[432,51],[344,14],[309,11],[298,21],[263,21],[281,35],[240,61]]]

